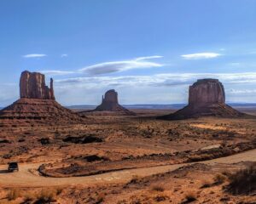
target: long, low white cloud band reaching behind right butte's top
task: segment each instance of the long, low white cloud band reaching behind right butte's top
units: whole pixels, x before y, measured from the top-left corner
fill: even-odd
[[[182,73],[156,74],[152,76],[122,76],[122,77],[74,77],[56,80],[61,86],[87,88],[96,87],[173,87],[189,86],[201,78],[218,78],[225,84],[256,83],[256,72],[241,73]]]

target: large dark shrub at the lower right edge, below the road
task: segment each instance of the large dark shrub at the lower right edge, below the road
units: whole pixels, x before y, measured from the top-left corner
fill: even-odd
[[[229,175],[228,190],[233,194],[250,194],[256,190],[256,162]]]

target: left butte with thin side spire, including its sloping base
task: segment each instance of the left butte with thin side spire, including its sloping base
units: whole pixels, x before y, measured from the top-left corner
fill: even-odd
[[[80,116],[55,101],[53,79],[50,88],[45,77],[37,72],[23,71],[20,76],[20,99],[0,111],[0,119],[79,121]]]

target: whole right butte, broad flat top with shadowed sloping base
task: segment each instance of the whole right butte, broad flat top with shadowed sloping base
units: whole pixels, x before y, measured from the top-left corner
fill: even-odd
[[[201,116],[247,116],[225,104],[224,86],[218,79],[200,79],[189,87],[189,105],[160,119],[182,120]]]

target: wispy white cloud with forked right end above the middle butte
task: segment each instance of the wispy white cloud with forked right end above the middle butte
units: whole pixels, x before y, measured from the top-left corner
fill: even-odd
[[[147,60],[156,58],[162,58],[162,56],[156,55],[123,61],[103,62],[96,65],[86,66],[83,69],[80,69],[79,72],[88,73],[90,75],[101,75],[117,71],[127,71],[131,69],[144,69],[163,66],[160,63],[155,63]]]

